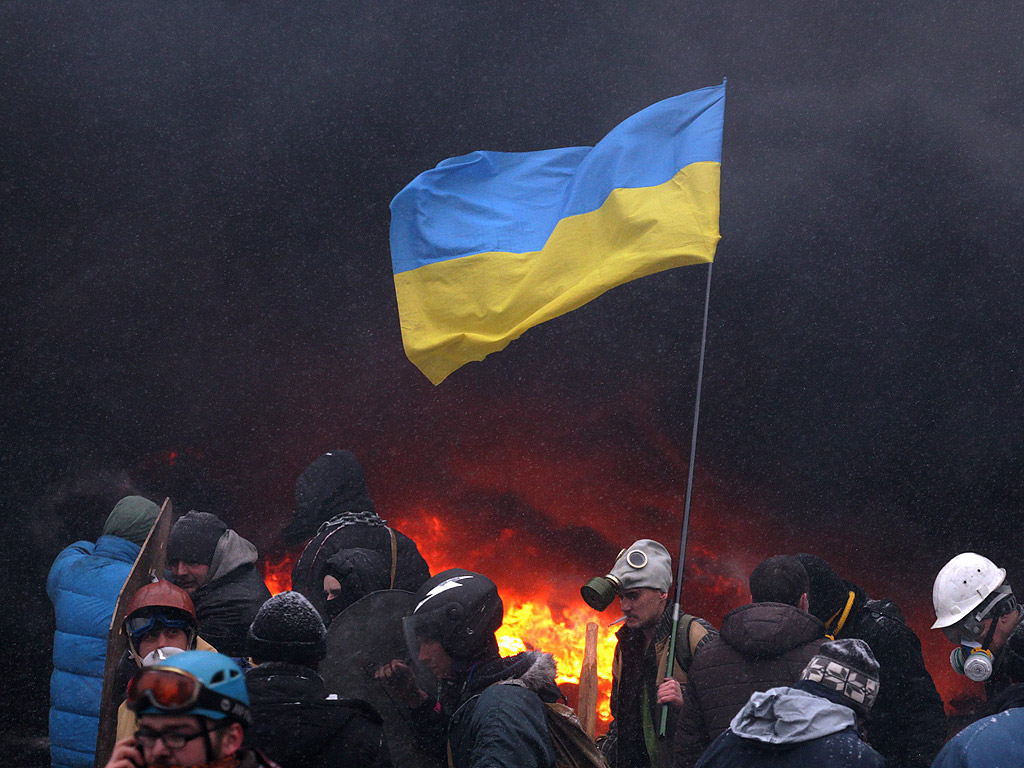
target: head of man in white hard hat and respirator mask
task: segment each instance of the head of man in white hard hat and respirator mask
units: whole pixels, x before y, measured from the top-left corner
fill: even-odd
[[[1002,649],[1024,633],[1021,606],[1007,571],[987,557],[964,552],[942,566],[932,587],[933,630],[956,645],[949,663],[961,675],[985,684],[991,701],[1009,685]]]

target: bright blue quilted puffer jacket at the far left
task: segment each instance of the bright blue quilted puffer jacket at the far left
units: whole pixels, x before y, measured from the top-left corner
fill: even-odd
[[[76,542],[57,555],[46,580],[56,614],[50,678],[50,760],[89,768],[96,749],[106,634],[118,594],[139,546],[116,536]]]

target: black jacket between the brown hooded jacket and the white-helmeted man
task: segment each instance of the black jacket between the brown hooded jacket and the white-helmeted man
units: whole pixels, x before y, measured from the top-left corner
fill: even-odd
[[[925,668],[921,641],[890,600],[855,593],[839,638],[858,638],[879,660],[879,697],[867,719],[867,741],[890,768],[926,768],[946,738],[946,715],[932,676]]]

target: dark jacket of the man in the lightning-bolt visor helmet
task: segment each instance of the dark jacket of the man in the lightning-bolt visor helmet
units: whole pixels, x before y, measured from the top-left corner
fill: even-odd
[[[544,702],[559,698],[555,659],[525,651],[473,665],[445,681],[439,711],[428,701],[413,717],[421,743],[431,742],[441,761],[451,745],[455,768],[554,768]]]

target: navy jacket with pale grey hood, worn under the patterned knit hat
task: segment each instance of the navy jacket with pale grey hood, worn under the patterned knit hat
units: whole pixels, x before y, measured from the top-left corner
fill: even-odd
[[[697,768],[884,768],[853,710],[802,685],[752,694]]]

